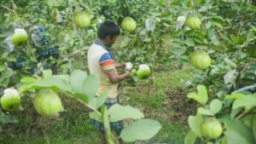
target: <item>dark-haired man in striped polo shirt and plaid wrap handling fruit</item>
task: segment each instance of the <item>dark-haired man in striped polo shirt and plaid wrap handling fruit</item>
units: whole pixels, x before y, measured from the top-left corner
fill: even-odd
[[[131,63],[116,63],[111,54],[111,46],[119,36],[120,30],[112,21],[105,21],[98,27],[98,39],[90,46],[88,50],[88,66],[90,74],[97,74],[100,77],[101,85],[96,96],[102,95],[104,91],[108,92],[108,99],[105,105],[109,108],[115,103],[119,103],[118,84],[125,78],[130,78]],[[119,74],[116,68],[125,68],[125,73]],[[95,125],[102,134],[102,143],[105,141],[104,126],[96,119],[90,119],[90,123]],[[123,121],[110,123],[111,130],[117,135],[123,129]]]

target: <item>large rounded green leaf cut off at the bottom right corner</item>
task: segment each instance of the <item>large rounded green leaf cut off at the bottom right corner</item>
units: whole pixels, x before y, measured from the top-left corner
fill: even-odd
[[[228,144],[231,144],[230,143],[230,141],[231,141],[230,138],[235,138],[235,137],[237,137],[237,141],[240,141],[240,140],[238,140],[238,137],[239,137],[239,139],[241,139],[241,141],[242,141],[241,142],[242,144],[246,144],[246,143],[253,144],[253,143],[256,143],[254,141],[254,138],[253,138],[252,130],[250,130],[247,127],[247,125],[243,124],[241,121],[238,121],[238,120],[226,120],[224,122],[224,126],[225,126],[225,129],[228,131],[228,133],[227,133],[228,134],[227,135]]]

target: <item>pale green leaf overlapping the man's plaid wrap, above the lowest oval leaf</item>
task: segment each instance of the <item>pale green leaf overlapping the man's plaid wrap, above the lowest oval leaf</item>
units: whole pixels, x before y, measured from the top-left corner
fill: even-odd
[[[125,118],[140,119],[144,118],[143,112],[140,112],[137,108],[130,106],[121,106],[119,104],[114,104],[108,109],[109,119],[111,122],[117,122]]]

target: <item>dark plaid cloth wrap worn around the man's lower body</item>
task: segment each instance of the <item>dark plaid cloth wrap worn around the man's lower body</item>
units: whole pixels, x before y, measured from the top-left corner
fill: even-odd
[[[107,99],[105,101],[105,105],[109,108],[111,106],[113,106],[113,104],[119,103],[119,99],[115,98],[115,99]],[[101,110],[101,107],[98,108],[98,111]],[[90,109],[90,112],[93,112],[93,110]],[[89,119],[90,124],[96,126],[96,128],[98,128],[99,130],[104,131],[104,125],[102,124],[102,122],[97,121],[96,119],[90,118]],[[119,135],[121,133],[121,130],[123,130],[123,121],[120,120],[118,122],[110,122],[110,129],[115,131],[117,133],[117,135]]]

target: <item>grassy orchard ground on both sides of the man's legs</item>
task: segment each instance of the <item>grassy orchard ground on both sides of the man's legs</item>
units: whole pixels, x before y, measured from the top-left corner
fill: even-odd
[[[139,81],[136,86],[120,84],[122,105],[138,107],[146,118],[154,118],[162,124],[160,132],[151,140],[137,143],[183,143],[189,130],[188,116],[194,115],[196,110],[195,101],[186,97],[189,92],[186,83],[193,80],[190,74],[193,70],[191,67],[177,70],[156,66],[151,79]],[[44,118],[28,108],[32,107],[32,98],[24,98],[22,107],[25,110],[13,113],[20,121],[3,126],[0,143],[99,144],[99,134],[88,122],[88,109],[65,95],[61,99],[65,112],[55,118]],[[125,123],[131,122],[127,120]]]

